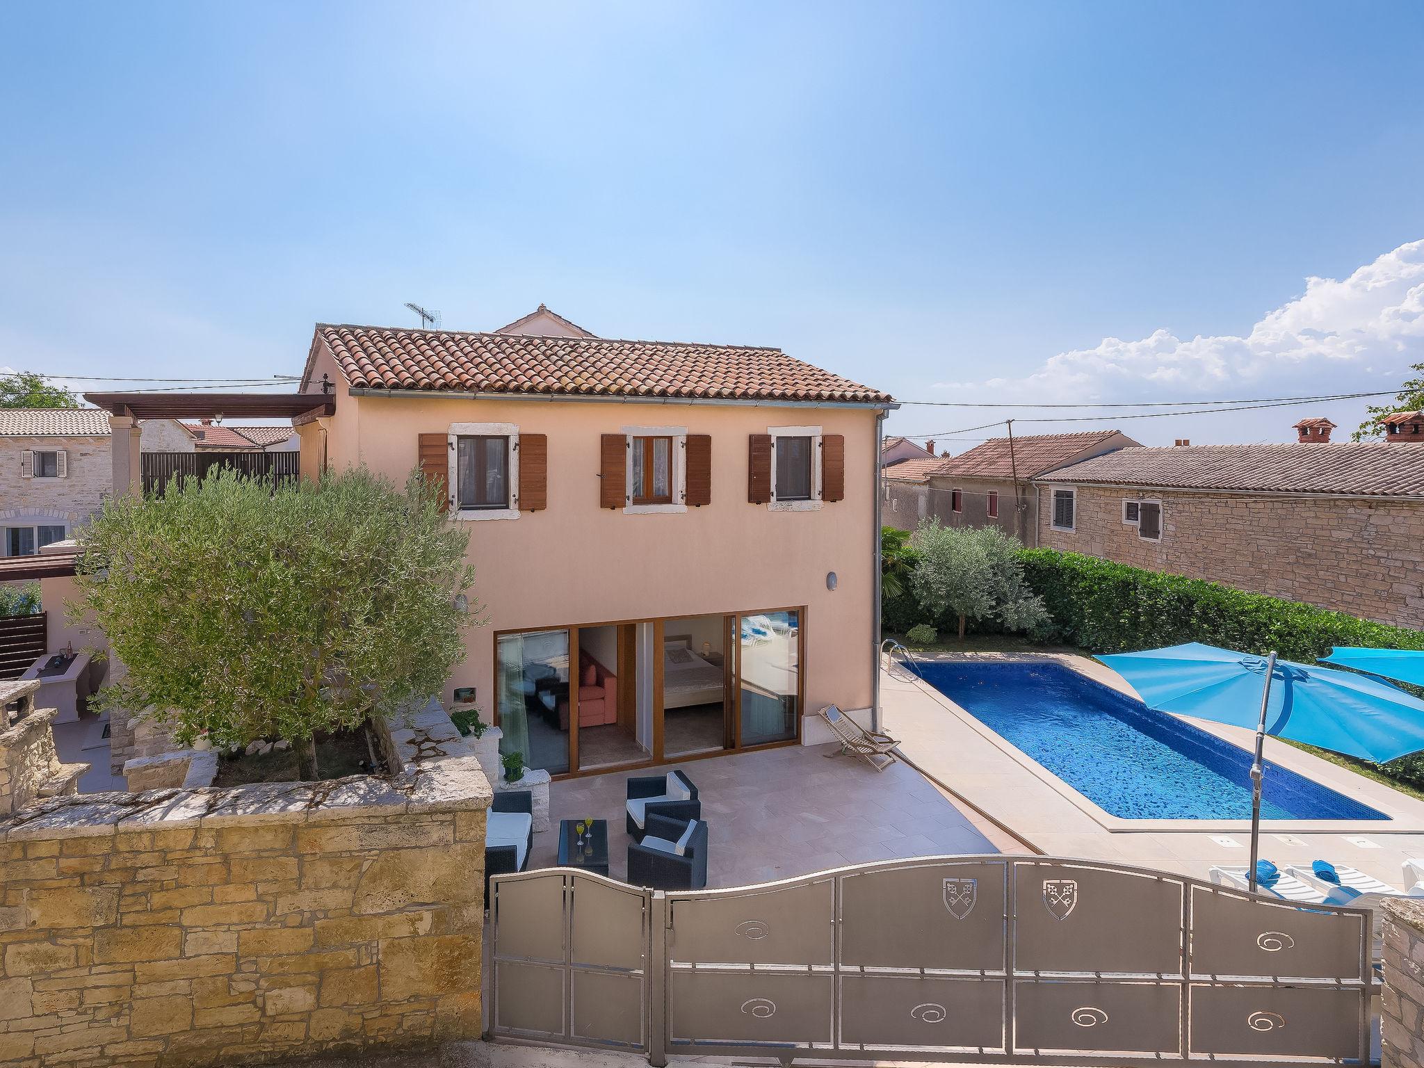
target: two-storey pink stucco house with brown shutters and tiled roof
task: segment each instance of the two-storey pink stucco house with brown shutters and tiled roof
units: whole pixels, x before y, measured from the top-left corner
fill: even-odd
[[[487,625],[447,701],[553,775],[786,745],[874,676],[893,400],[778,349],[319,325],[303,474],[444,484]]]

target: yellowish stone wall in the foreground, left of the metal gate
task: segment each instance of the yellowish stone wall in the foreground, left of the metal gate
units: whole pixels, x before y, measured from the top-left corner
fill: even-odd
[[[389,779],[87,795],[0,823],[0,1062],[478,1035],[490,785],[419,735]]]

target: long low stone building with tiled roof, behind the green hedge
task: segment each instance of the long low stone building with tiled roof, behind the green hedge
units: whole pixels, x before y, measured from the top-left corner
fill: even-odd
[[[1121,449],[1035,483],[1040,544],[1424,628],[1424,447]]]

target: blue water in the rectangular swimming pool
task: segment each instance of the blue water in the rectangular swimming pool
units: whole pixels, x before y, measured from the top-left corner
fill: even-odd
[[[926,682],[1121,819],[1250,819],[1245,749],[1048,661],[921,661]],[[1262,819],[1388,816],[1266,763]]]

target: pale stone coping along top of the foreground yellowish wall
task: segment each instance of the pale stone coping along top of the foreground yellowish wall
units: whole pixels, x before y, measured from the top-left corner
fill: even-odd
[[[0,824],[0,842],[483,812],[490,807],[493,796],[490,782],[473,755],[436,758],[407,766],[390,778],[355,775],[325,782],[53,797],[26,806]]]

